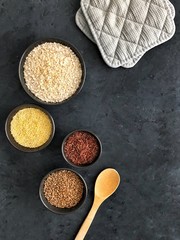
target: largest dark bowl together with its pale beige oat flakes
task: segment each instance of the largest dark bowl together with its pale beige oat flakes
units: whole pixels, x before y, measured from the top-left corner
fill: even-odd
[[[57,105],[70,100],[83,87],[84,60],[70,43],[49,38],[30,45],[19,63],[19,78],[37,102]]]

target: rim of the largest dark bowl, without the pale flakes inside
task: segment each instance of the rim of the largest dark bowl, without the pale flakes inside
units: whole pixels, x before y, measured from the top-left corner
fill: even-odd
[[[82,67],[82,79],[81,79],[81,83],[79,85],[79,88],[77,89],[77,91],[71,96],[69,97],[68,99],[62,101],[62,102],[57,102],[57,103],[53,103],[53,102],[45,102],[45,101],[42,101],[41,99],[39,99],[38,97],[36,97],[29,89],[28,87],[26,86],[26,82],[25,82],[25,79],[24,79],[24,63],[25,63],[25,60],[26,60],[26,57],[28,56],[28,54],[35,48],[37,47],[38,45],[41,45],[43,43],[46,43],[46,42],[56,42],[56,43],[61,43],[67,47],[70,47],[73,52],[76,54],[76,56],[79,58],[79,61],[81,63],[81,67]],[[46,104],[46,105],[59,105],[59,104],[62,104],[62,103],[65,103],[67,101],[69,101],[71,98],[73,98],[74,96],[76,96],[82,89],[83,85],[84,85],[84,82],[85,82],[85,78],[86,78],[86,67],[85,67],[85,62],[83,60],[83,57],[82,55],[80,54],[80,52],[69,42],[67,41],[64,41],[64,40],[61,40],[61,39],[56,39],[56,38],[47,38],[47,39],[44,39],[44,40],[39,40],[33,44],[31,44],[26,50],[25,52],[23,53],[21,59],[20,59],[20,62],[19,62],[19,79],[20,79],[20,82],[21,82],[21,85],[22,87],[24,88],[24,90],[26,91],[26,93],[32,98],[34,99],[35,101],[41,103],[41,104]]]

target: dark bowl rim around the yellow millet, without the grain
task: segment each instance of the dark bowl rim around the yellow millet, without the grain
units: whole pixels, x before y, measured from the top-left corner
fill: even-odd
[[[47,142],[45,142],[43,145],[41,145],[40,147],[37,147],[37,148],[27,148],[27,147],[24,147],[20,144],[18,144],[15,139],[13,138],[12,134],[11,134],[11,131],[10,131],[10,124],[11,124],[11,121],[14,117],[14,115],[21,109],[24,109],[24,108],[29,108],[29,107],[32,107],[32,108],[37,108],[41,111],[43,111],[50,119],[51,121],[51,124],[52,124],[52,133],[51,133],[51,136],[50,138],[47,140]],[[47,112],[44,108],[41,108],[37,105],[34,105],[34,104],[23,104],[23,105],[20,105],[16,108],[14,108],[10,114],[8,115],[7,119],[6,119],[6,123],[5,123],[5,132],[6,132],[6,136],[9,140],[9,142],[15,147],[17,148],[18,150],[20,151],[23,151],[23,152],[37,152],[39,150],[42,150],[43,148],[47,147],[50,142],[52,141],[53,137],[54,137],[54,133],[55,133],[55,124],[54,124],[54,120],[52,118],[52,116],[49,114],[49,112]]]

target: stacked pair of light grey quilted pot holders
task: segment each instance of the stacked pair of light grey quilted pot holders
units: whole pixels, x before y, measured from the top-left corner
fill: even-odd
[[[175,32],[175,10],[168,0],[82,0],[81,8],[76,23],[110,67],[134,66]]]

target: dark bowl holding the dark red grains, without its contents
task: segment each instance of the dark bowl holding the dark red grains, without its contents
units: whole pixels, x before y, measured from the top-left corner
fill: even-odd
[[[71,161],[66,157],[66,155],[65,155],[65,153],[64,153],[64,145],[65,145],[65,143],[66,143],[66,140],[71,136],[71,134],[73,134],[73,133],[75,133],[75,132],[87,132],[87,133],[91,134],[93,137],[95,137],[95,138],[97,139],[97,142],[98,142],[98,144],[99,144],[99,154],[98,154],[97,158],[96,158],[93,162],[91,162],[91,163],[89,163],[89,164],[76,165],[76,164],[74,164],[73,162],[71,162]],[[100,139],[98,138],[98,136],[97,136],[96,134],[94,134],[94,133],[92,133],[92,132],[90,132],[90,131],[88,131],[88,130],[80,129],[80,130],[75,130],[75,131],[69,133],[69,134],[64,138],[64,140],[63,140],[63,142],[62,142],[62,146],[61,146],[61,151],[62,151],[62,155],[63,155],[64,159],[65,159],[66,162],[69,163],[71,166],[73,166],[73,167],[79,167],[79,168],[84,168],[84,167],[88,167],[88,166],[90,166],[90,165],[93,165],[95,162],[97,162],[97,160],[100,158],[100,156],[101,156],[101,154],[102,154],[102,144],[101,144],[101,141],[100,141]]]

